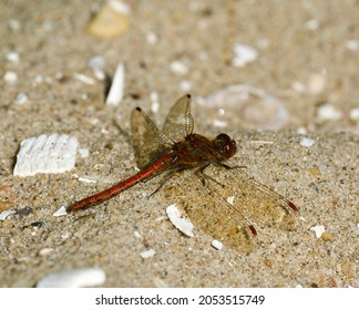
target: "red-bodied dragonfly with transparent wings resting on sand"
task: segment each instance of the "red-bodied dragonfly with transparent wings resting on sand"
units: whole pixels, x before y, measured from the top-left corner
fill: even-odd
[[[66,211],[100,204],[140,182],[163,174],[160,187],[154,192],[156,193],[178,173],[195,170],[196,177],[189,176],[186,182],[192,188],[168,186],[164,195],[176,200],[194,224],[215,239],[237,251],[249,252],[257,229],[248,216],[264,225],[285,224],[289,229],[295,227],[293,214],[298,208],[294,203],[255,180],[243,167],[227,165],[237,152],[233,138],[220,133],[209,140],[193,132],[191,101],[189,94],[177,100],[167,114],[162,131],[141,107],[136,107],[131,115],[131,127],[140,172],[70,205]],[[192,189],[196,190],[196,202],[186,200],[187,190]]]

